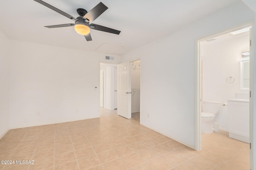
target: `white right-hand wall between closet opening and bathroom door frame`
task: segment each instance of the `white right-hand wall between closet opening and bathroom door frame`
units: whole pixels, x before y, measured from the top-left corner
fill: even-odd
[[[123,55],[123,62],[142,63],[142,125],[195,148],[197,40],[252,20],[254,13],[238,2]]]

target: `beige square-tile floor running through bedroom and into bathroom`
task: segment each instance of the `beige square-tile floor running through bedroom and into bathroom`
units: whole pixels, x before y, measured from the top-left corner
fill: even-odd
[[[249,145],[224,131],[202,134],[200,151],[148,129],[116,111],[101,117],[12,129],[0,139],[2,170],[249,170]],[[16,162],[15,162],[16,163]]]

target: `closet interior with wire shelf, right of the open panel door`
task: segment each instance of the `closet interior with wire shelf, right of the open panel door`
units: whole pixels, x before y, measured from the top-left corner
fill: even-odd
[[[131,63],[132,113],[140,111],[140,60]]]

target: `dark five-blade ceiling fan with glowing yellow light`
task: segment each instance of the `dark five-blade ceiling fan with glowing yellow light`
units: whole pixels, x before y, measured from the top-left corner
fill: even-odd
[[[92,23],[96,18],[98,18],[103,12],[105,12],[108,7],[106,7],[102,2],[100,2],[98,5],[96,5],[92,10],[87,12],[86,10],[82,8],[78,8],[76,12],[78,13],[78,17],[75,18],[73,16],[70,16],[66,12],[63,12],[62,10],[59,10],[58,8],[55,8],[54,6],[51,6],[50,4],[47,4],[46,2],[42,0],[34,0],[56,12],[59,14],[62,14],[63,16],[69,18],[70,20],[75,21],[75,23],[65,23],[65,24],[60,24],[60,25],[49,25],[45,26],[47,28],[58,28],[58,27],[70,27],[74,26],[75,31],[78,34],[84,35],[85,39],[87,41],[92,41],[92,37],[90,34],[90,29],[95,29],[98,31],[104,31],[108,33],[113,33],[113,34],[120,34],[121,31],[118,31],[116,29],[112,29],[109,27],[104,27],[102,25],[97,25]]]

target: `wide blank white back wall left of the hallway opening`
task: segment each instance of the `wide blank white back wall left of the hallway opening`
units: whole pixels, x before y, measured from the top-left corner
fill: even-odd
[[[10,128],[100,116],[103,53],[21,41],[11,44]],[[115,59],[113,63],[119,62]]]

